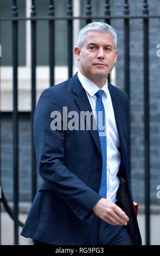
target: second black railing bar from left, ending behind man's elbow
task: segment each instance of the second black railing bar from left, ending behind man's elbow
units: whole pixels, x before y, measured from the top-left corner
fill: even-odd
[[[31,17],[36,16],[35,1],[32,0]],[[36,107],[36,20],[31,20],[31,199],[37,188],[36,156],[34,148],[33,124]]]

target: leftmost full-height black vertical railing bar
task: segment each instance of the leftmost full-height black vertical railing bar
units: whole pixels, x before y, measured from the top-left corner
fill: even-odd
[[[17,1],[13,1],[12,17],[17,17]],[[12,21],[13,64],[13,162],[14,162],[14,244],[18,245],[18,22]]]

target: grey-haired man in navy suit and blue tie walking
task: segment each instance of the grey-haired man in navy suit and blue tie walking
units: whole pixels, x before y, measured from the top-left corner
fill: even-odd
[[[116,44],[106,23],[82,28],[78,74],[40,96],[34,141],[43,181],[21,233],[35,245],[142,243],[127,173],[129,100],[107,82]]]

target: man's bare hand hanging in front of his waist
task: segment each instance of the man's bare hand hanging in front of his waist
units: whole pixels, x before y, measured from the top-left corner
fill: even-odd
[[[101,220],[111,225],[127,225],[127,221],[129,221],[129,217],[123,210],[105,198],[101,198],[92,210]]]

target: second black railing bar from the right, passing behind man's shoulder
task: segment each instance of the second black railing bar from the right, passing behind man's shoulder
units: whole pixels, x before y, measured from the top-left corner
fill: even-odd
[[[124,1],[124,15],[130,15],[128,0]],[[130,20],[124,19],[124,77],[125,77],[125,92],[130,99]],[[130,124],[129,124],[129,151],[128,151],[128,169],[131,182],[131,143],[130,143]]]

